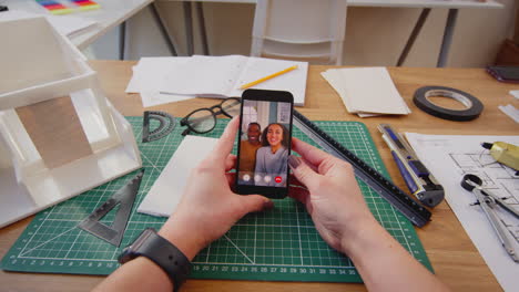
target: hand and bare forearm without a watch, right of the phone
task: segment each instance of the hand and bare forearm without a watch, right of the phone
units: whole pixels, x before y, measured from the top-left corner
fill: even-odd
[[[373,217],[364,201],[352,165],[299,139],[291,156],[294,176],[307,191],[288,195],[302,201],[320,237],[355,263],[368,291],[449,291],[416,261]]]

